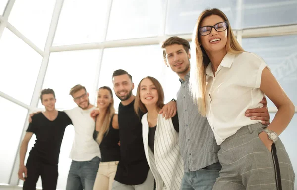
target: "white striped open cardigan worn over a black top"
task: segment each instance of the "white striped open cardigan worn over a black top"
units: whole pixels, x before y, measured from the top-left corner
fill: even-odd
[[[156,181],[156,190],[180,190],[184,169],[178,145],[178,133],[171,119],[158,115],[154,153],[148,146],[148,113],[141,119],[148,165]]]

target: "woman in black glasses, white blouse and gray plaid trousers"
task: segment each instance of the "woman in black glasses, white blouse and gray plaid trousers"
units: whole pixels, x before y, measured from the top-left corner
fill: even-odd
[[[264,60],[243,50],[222,11],[203,11],[195,29],[190,87],[221,145],[213,190],[293,190],[295,174],[278,138],[293,117],[293,103]],[[268,127],[245,116],[263,106],[264,94],[278,108]]]

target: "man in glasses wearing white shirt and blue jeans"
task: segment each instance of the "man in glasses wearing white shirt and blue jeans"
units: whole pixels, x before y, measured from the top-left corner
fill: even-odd
[[[101,157],[99,146],[93,139],[95,122],[90,117],[96,107],[90,104],[89,93],[82,85],[71,88],[70,95],[78,107],[64,111],[75,130],[66,190],[92,190]]]

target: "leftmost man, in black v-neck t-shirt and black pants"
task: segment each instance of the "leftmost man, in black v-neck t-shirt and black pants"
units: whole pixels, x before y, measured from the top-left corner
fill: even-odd
[[[55,109],[56,99],[52,89],[44,89],[40,99],[46,111],[32,117],[20,148],[18,176],[24,181],[23,190],[35,190],[39,176],[43,190],[56,189],[61,143],[66,126],[72,124],[66,113]],[[36,141],[25,166],[25,155],[33,133],[36,135]]]

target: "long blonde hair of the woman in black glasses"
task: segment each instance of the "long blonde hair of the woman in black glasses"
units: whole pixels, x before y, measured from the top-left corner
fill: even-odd
[[[191,69],[190,69],[189,85],[190,85],[191,93],[193,95],[193,100],[194,102],[197,102],[198,111],[202,116],[206,116],[206,102],[205,102],[206,72],[205,70],[210,60],[205,52],[205,49],[203,48],[202,45],[200,45],[201,40],[200,40],[198,30],[203,19],[211,15],[220,16],[224,21],[227,21],[229,23],[228,18],[221,10],[216,8],[206,9],[198,17],[195,28],[193,30],[192,43],[195,43],[195,44],[193,44],[192,47],[195,46],[195,50],[191,52],[192,59],[194,60],[190,62]],[[238,53],[244,52],[244,49],[237,42],[237,39],[235,38],[232,32],[230,24],[228,24],[228,27],[227,27],[226,50],[228,53],[231,53],[231,54],[238,54]]]

